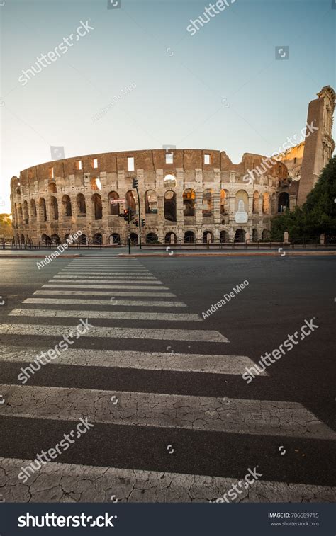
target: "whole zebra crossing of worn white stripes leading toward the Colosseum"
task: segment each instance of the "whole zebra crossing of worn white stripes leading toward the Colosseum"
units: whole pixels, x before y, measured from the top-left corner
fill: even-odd
[[[230,355],[228,338],[185,309],[137,259],[79,257],[8,312],[0,421],[9,438],[21,435],[1,443],[6,500],[213,501],[256,465],[263,477],[240,501],[333,500],[318,470],[306,481],[303,465],[300,481],[278,450],[299,443],[327,452],[332,429],[298,401],[252,397],[240,378],[254,362]],[[92,329],[19,384],[21,367],[81,318]],[[271,381],[267,370],[258,381]],[[21,468],[81,417],[94,428],[21,484]]]

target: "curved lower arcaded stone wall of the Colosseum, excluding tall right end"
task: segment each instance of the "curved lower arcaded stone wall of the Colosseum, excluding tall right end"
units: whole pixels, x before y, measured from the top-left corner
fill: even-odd
[[[279,162],[271,169],[266,168],[261,175],[254,176],[253,183],[249,183],[246,178],[243,180],[247,171],[260,166],[264,156],[244,154],[240,164],[233,164],[225,152],[211,149],[172,149],[172,154],[172,163],[166,161],[164,149],[91,154],[51,161],[21,171],[19,179],[13,177],[11,180],[14,234],[33,241],[43,241],[45,237],[58,237],[63,241],[67,234],[80,230],[89,240],[101,234],[105,245],[112,241],[113,234],[119,235],[125,244],[128,225],[123,218],[110,214],[109,195],[114,192],[118,198],[125,198],[132,190],[132,179],[136,176],[141,217],[145,219],[142,239],[153,233],[164,242],[168,233],[174,233],[177,241],[184,241],[185,233],[189,231],[197,240],[210,233],[212,240],[219,241],[220,237],[234,239],[237,229],[242,229],[243,235],[249,233],[250,239],[252,236],[262,239],[263,234],[264,237],[267,235],[271,217],[278,210],[278,193],[288,191],[288,171],[284,164]],[[134,171],[129,171],[128,158],[132,157]],[[207,159],[209,163],[206,163]],[[78,169],[79,161],[82,169]],[[168,174],[174,176],[176,186],[164,184]],[[101,189],[93,189],[97,188],[95,179],[99,179],[98,188]],[[194,190],[194,215],[188,215],[185,210],[184,192],[189,189]],[[147,190],[154,190],[157,203],[155,211],[146,214]],[[211,190],[209,200],[203,198],[205,190]],[[169,216],[176,221],[164,217],[164,206],[167,207],[164,194],[167,191],[176,196],[176,217]],[[79,197],[82,197],[79,194],[84,195],[86,212],[79,204]],[[65,200],[65,195],[69,200]],[[102,207],[99,219],[96,219],[94,207],[97,195]],[[136,199],[135,191],[134,197]],[[117,206],[122,212],[126,205]],[[138,228],[131,224],[130,232],[138,234]]]

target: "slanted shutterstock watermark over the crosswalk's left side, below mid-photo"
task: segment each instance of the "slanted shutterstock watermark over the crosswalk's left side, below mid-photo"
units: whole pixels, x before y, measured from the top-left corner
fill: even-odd
[[[84,330],[82,330],[82,326],[84,326]],[[32,377],[35,372],[38,372],[40,370],[41,365],[47,365],[51,362],[53,359],[57,359],[59,355],[61,355],[61,351],[65,352],[69,348],[70,344],[73,344],[74,341],[72,341],[72,338],[79,338],[87,331],[90,331],[91,328],[93,328],[91,324],[89,324],[89,319],[85,319],[85,321],[81,318],[79,319],[79,324],[76,326],[76,331],[70,331],[68,335],[63,335],[62,340],[60,343],[57,343],[54,348],[50,348],[50,350],[47,350],[46,352],[41,352],[40,354],[36,355],[36,358],[33,360],[33,363],[30,363],[28,367],[21,367],[21,372],[18,374],[18,380],[24,385],[28,382],[29,378]],[[43,361],[45,360],[45,361]]]

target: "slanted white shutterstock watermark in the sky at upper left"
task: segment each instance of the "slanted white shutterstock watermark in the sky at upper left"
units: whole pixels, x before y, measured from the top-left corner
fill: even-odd
[[[61,53],[63,55],[66,54],[69,48],[74,46],[74,42],[72,41],[79,41],[80,38],[84,38],[84,36],[89,33],[90,30],[94,30],[94,27],[89,25],[89,21],[86,21],[85,23],[80,21],[80,25],[78,26],[75,34],[71,33],[69,37],[63,38],[63,40],[57,45],[57,47],[54,48],[54,50],[50,50],[47,52],[47,54],[41,54],[40,57],[37,56],[35,64],[30,65],[26,71],[22,69],[22,74],[18,77],[20,84],[22,84],[23,87],[26,86],[28,81],[30,81],[29,75],[34,77],[48,65],[52,64],[53,62],[57,62],[57,59],[61,57]],[[48,61],[49,59],[50,61]]]

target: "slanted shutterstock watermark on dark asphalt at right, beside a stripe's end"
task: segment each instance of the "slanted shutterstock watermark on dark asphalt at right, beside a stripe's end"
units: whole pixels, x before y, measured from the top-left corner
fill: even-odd
[[[314,324],[315,317],[308,320],[305,320],[305,323],[303,326],[301,326],[301,337],[298,340],[298,336],[300,333],[296,331],[293,335],[288,335],[286,338],[286,341],[284,343],[279,345],[279,348],[275,348],[271,353],[267,352],[265,355],[262,355],[262,358],[259,360],[259,363],[257,365],[254,365],[254,367],[247,368],[245,367],[246,372],[242,375],[243,379],[247,381],[247,383],[252,382],[252,380],[264,372],[266,366],[270,367],[272,363],[275,363],[276,360],[279,360],[282,358],[283,355],[286,354],[286,352],[290,352],[293,350],[294,346],[296,346],[300,341],[303,341],[304,338],[308,337],[310,333],[313,333],[315,329],[318,329],[318,326]],[[308,331],[307,331],[308,328]],[[271,357],[273,356],[273,357]],[[274,358],[274,359],[273,359]]]

